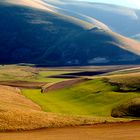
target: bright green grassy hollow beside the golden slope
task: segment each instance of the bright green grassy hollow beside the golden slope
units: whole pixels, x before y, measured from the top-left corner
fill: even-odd
[[[110,116],[113,107],[140,96],[139,93],[120,93],[113,89],[116,87],[96,79],[46,94],[39,90],[22,90],[22,93],[44,111],[89,116]]]

